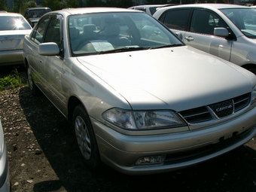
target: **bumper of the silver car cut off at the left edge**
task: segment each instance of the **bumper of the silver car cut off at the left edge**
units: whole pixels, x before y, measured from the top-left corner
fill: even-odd
[[[23,50],[0,51],[0,66],[23,64]]]

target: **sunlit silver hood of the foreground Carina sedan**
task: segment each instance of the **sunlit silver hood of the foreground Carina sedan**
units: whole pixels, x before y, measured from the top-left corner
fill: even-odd
[[[239,66],[182,46],[78,57],[134,110],[182,111],[251,92],[255,77]]]

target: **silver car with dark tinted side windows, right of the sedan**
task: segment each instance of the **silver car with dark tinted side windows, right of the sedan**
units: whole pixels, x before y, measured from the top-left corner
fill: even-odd
[[[185,44],[219,56],[256,75],[256,11],[230,4],[160,8],[157,20]]]

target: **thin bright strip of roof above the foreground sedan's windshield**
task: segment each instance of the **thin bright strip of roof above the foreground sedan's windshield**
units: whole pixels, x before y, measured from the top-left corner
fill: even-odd
[[[134,9],[126,8],[66,8],[58,11],[51,11],[52,13],[63,13],[63,14],[93,14],[93,13],[108,13],[108,12],[142,12]],[[49,14],[47,13],[47,14]]]

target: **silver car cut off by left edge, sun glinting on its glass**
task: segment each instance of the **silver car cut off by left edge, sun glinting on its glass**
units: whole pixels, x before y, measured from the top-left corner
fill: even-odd
[[[31,26],[16,13],[0,13],[0,23],[0,66],[23,64],[23,39]]]

